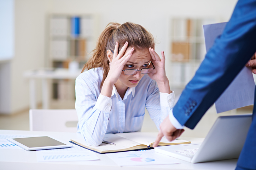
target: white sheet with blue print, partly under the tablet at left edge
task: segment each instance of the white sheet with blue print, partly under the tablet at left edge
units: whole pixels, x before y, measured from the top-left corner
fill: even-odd
[[[22,149],[21,147],[11,143],[6,138],[25,138],[25,137],[35,137],[38,135],[13,135],[13,134],[0,134],[0,149]]]

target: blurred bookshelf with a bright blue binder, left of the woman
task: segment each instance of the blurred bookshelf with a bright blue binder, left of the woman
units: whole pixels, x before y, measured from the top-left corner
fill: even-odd
[[[97,16],[92,14],[50,14],[48,17],[48,67],[81,70],[95,47]],[[51,98],[74,101],[75,81],[53,79]]]

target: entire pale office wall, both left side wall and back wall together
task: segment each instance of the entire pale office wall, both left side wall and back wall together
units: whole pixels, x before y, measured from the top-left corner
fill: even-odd
[[[15,56],[10,61],[11,104],[7,113],[18,112],[29,106],[29,83],[22,74],[25,70],[45,66],[45,38],[48,36],[45,20],[48,13],[96,14],[99,16],[99,33],[107,23],[113,21],[141,24],[156,37],[156,51],[160,54],[164,50],[168,61],[171,17],[221,17],[223,21],[227,21],[236,2],[237,0],[16,0]],[[38,86],[37,102],[41,101],[40,92]]]

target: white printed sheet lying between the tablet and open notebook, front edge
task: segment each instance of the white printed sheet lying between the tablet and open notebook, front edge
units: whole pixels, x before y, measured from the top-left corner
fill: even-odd
[[[63,149],[39,150],[36,151],[36,158],[37,162],[99,160],[93,151],[75,145]]]

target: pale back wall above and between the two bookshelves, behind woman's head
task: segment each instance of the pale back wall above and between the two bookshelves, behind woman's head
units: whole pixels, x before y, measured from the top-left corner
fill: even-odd
[[[93,13],[99,15],[99,30],[110,22],[131,21],[144,26],[156,38],[156,52],[166,57],[167,76],[170,70],[170,33],[172,17],[217,18],[228,21],[237,0],[53,0],[56,13]],[[173,89],[176,94],[181,89]]]

